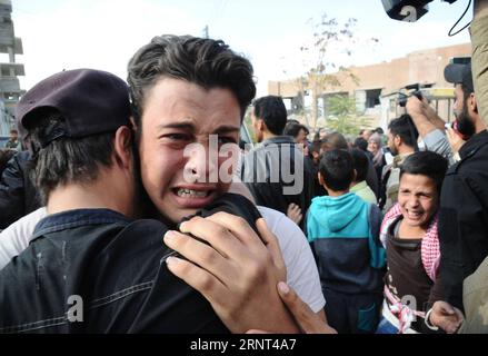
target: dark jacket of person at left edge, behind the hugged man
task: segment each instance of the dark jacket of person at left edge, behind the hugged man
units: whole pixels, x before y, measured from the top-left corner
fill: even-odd
[[[0,230],[41,206],[29,172],[29,151],[16,154],[0,177]]]

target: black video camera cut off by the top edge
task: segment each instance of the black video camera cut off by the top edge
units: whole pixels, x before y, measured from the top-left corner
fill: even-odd
[[[429,11],[434,0],[381,0],[385,11],[394,20],[415,22]],[[457,0],[441,0],[454,3]]]

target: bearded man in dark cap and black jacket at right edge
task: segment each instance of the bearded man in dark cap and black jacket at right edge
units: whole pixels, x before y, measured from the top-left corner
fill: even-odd
[[[446,300],[462,309],[462,281],[488,256],[488,132],[478,113],[471,66],[449,65],[445,77],[456,86],[456,131],[467,141],[442,185],[440,273]]]

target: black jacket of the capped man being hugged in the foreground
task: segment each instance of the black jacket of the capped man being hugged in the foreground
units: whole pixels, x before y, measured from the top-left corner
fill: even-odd
[[[199,215],[227,211],[256,230],[259,211],[223,195]],[[0,270],[1,333],[228,333],[207,299],[173,276],[157,220],[108,209],[46,217],[29,247]]]

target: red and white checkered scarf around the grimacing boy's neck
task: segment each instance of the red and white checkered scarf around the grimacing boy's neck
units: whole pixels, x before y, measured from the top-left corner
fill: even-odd
[[[388,212],[381,222],[380,228],[380,239],[386,248],[388,229],[391,224],[401,215],[400,205],[397,202]],[[429,276],[429,278],[435,281],[437,276],[437,270],[440,263],[440,248],[439,248],[439,235],[437,233],[438,215],[434,217],[429,227],[427,228],[426,236],[422,238],[421,243],[421,258],[424,268]]]

